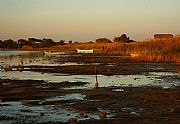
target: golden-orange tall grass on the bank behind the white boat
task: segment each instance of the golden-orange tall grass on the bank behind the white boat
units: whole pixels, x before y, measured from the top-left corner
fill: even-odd
[[[94,49],[99,54],[137,54],[132,57],[137,62],[177,62],[180,63],[180,38],[168,40],[146,40],[133,43],[76,43],[51,47],[51,50]]]

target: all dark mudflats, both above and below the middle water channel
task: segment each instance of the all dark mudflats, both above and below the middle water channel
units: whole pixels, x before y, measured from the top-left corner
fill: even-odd
[[[78,57],[77,57],[78,58]],[[10,71],[33,71],[40,73],[65,73],[70,75],[148,75],[149,72],[178,73],[180,64],[177,63],[137,63],[124,61],[119,58],[95,57],[76,59],[71,57],[50,57],[50,61],[61,64],[76,62],[80,65],[69,66],[13,66]],[[119,59],[119,60],[117,60]],[[103,61],[103,62],[102,62]],[[9,71],[9,70],[8,70]],[[7,73],[8,73],[7,71]],[[180,82],[177,76],[161,76],[161,79]],[[137,80],[137,79],[134,79]],[[180,84],[168,87],[142,86],[112,86],[90,89],[67,89],[84,86],[89,82],[58,82],[49,83],[43,80],[12,80],[0,79],[0,108],[11,106],[9,102],[20,102],[22,108],[18,110],[27,116],[0,113],[1,122],[11,123],[47,123],[47,124],[179,124],[180,122]],[[77,99],[65,96],[77,95]],[[57,98],[56,98],[57,97]],[[53,106],[54,109],[67,108],[76,113],[67,112],[67,118],[77,121],[27,121],[32,107]],[[52,109],[52,108],[51,108]],[[0,109],[1,112],[1,109]],[[99,117],[100,112],[106,116]],[[46,118],[51,111],[38,111],[31,118],[40,120]],[[93,113],[92,118],[89,113]],[[57,114],[58,115],[58,114]],[[61,116],[59,114],[58,116]]]

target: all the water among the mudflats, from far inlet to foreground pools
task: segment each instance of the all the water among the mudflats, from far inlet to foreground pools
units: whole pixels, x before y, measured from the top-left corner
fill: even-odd
[[[68,57],[67,55],[64,57]],[[44,66],[66,66],[79,65],[79,63],[64,62],[57,63],[51,57],[45,57],[43,52],[36,51],[0,51],[0,64],[4,65],[44,65]],[[82,64],[82,63],[81,63]],[[97,64],[97,63],[92,63]],[[180,75],[174,72],[150,72],[148,74],[139,75],[97,75],[100,87],[115,87],[115,86],[156,86],[162,88],[174,88],[180,86]],[[61,83],[61,82],[86,82],[84,86],[72,86],[65,89],[91,89],[95,87],[95,75],[71,75],[63,73],[41,73],[32,71],[0,71],[0,79],[16,79],[16,80],[44,80],[47,83]],[[45,99],[45,101],[58,100],[85,100],[85,95],[80,93],[67,94],[64,96],[55,96]],[[12,121],[0,121],[0,123],[43,123],[48,121],[53,122],[67,122],[68,118],[76,117],[78,112],[64,108],[58,105],[43,105],[43,106],[25,106],[24,102],[1,102],[0,114],[17,118]],[[41,101],[39,101],[41,102]],[[101,108],[99,108],[101,109]],[[108,110],[104,110],[107,111]],[[44,116],[41,116],[43,113]],[[78,120],[99,119],[98,113],[86,113],[88,116],[80,117]],[[113,116],[109,112],[108,118]],[[18,119],[19,118],[19,119]],[[19,120],[19,121],[18,121]],[[21,122],[22,121],[22,122]]]

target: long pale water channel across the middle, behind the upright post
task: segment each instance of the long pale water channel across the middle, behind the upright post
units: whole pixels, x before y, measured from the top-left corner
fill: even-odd
[[[166,73],[169,76],[179,77],[177,73]],[[164,75],[164,73],[162,73]],[[147,75],[113,75],[105,76],[98,75],[98,81],[100,87],[111,87],[111,86],[128,86],[133,84],[133,86],[165,86],[168,84],[169,87],[180,83],[177,79],[174,83],[169,83],[165,79],[161,79],[161,73],[150,73]],[[0,78],[2,79],[17,79],[17,80],[44,80],[51,83],[60,83],[63,81],[69,82],[88,82],[88,84],[78,87],[72,87],[73,89],[82,89],[82,88],[93,88],[95,85],[95,75],[68,75],[61,73],[39,73],[39,72],[19,72],[19,71],[2,71],[0,73]],[[158,82],[158,83],[157,83]],[[161,84],[161,85],[159,85]],[[163,85],[162,85],[163,84]],[[168,86],[167,85],[167,86]]]

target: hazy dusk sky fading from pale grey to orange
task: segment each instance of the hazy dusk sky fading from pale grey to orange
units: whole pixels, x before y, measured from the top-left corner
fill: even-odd
[[[0,0],[0,39],[143,41],[180,33],[180,0]]]

